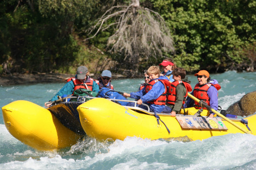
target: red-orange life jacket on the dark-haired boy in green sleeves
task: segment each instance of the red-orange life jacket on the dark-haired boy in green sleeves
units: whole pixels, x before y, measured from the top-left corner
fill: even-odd
[[[186,94],[184,95],[183,102],[182,102],[183,105],[185,104],[186,97],[188,96],[188,92],[192,91],[192,87],[191,87],[191,85],[189,83],[187,83],[185,81],[182,81],[182,80],[174,81],[169,86],[168,93],[167,93],[167,100],[166,100],[167,104],[169,104],[169,105],[174,105],[175,104],[175,101],[176,101],[176,88],[177,88],[177,86],[179,84],[184,84],[184,86],[186,88]],[[182,107],[183,107],[183,105],[182,105]]]

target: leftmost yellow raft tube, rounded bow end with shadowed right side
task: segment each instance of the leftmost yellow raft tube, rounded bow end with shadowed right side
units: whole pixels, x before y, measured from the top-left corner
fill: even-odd
[[[69,130],[51,112],[32,102],[18,100],[2,107],[8,131],[38,150],[54,150],[75,144],[82,136]]]

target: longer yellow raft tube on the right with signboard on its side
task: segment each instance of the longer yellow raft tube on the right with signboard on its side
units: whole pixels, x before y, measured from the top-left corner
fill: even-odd
[[[142,139],[170,139],[188,137],[191,140],[206,139],[230,133],[244,133],[233,124],[256,134],[256,115],[245,118],[248,127],[240,119],[230,124],[224,119],[195,116],[159,114],[135,107],[124,107],[104,98],[95,98],[77,108],[85,133],[99,140],[140,137]],[[159,124],[158,124],[159,122]],[[169,131],[170,132],[169,132]]]

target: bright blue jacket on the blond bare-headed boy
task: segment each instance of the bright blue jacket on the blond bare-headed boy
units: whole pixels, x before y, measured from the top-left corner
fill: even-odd
[[[160,76],[159,78],[156,78],[156,79],[169,80],[168,77],[164,77],[164,76]],[[151,80],[151,81],[153,81],[153,80]],[[164,91],[165,91],[164,84],[161,81],[158,81],[153,85],[152,89],[148,93],[146,93],[145,90],[146,89],[144,87],[141,91],[138,91],[135,93],[130,93],[130,95],[131,95],[130,97],[137,99],[137,100],[141,99],[144,104],[149,105],[151,111],[161,113],[165,107],[164,105],[149,104],[147,102],[157,99],[162,93],[164,93]]]

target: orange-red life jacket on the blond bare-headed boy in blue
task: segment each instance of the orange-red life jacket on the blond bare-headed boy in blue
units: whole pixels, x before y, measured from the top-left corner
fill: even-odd
[[[164,93],[162,93],[157,99],[155,99],[154,101],[150,101],[148,103],[150,104],[155,104],[155,105],[165,105],[165,102],[166,102],[166,93],[167,93],[167,87],[166,87],[166,82],[165,81],[168,81],[168,80],[165,80],[165,79],[155,79],[153,81],[150,81],[148,84],[146,84],[146,90],[145,92],[148,93],[153,85],[158,82],[158,81],[161,81],[163,84],[164,84],[164,87],[165,87],[165,91]],[[169,81],[168,81],[169,82]]]

